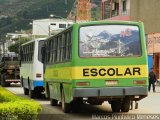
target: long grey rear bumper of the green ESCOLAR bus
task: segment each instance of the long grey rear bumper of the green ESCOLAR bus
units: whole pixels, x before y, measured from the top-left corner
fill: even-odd
[[[74,88],[73,97],[147,96],[147,87]]]

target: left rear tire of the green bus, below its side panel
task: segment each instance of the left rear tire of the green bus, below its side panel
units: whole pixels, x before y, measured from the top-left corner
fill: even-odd
[[[61,95],[61,101],[62,101],[62,110],[64,113],[69,113],[71,111],[71,105],[69,103],[65,102],[65,94],[64,90],[62,89],[62,95]]]

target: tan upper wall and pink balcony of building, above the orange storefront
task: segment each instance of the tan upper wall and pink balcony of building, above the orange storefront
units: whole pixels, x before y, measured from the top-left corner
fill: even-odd
[[[142,21],[146,33],[160,31],[160,0],[105,0],[105,19]],[[152,24],[154,23],[154,24]]]

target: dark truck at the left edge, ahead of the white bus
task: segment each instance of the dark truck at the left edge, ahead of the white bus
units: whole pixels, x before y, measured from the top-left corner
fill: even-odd
[[[0,84],[2,87],[10,83],[20,82],[18,54],[14,52],[2,53],[0,56]]]

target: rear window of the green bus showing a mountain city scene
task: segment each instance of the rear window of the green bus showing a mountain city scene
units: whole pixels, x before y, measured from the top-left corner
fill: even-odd
[[[138,26],[83,26],[79,32],[80,57],[126,57],[141,55]]]

